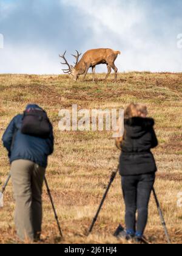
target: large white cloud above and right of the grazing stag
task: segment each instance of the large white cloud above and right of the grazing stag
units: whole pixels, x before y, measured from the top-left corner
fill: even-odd
[[[120,71],[181,71],[182,52],[176,46],[176,37],[166,24],[160,37],[153,34],[155,20],[149,24],[146,5],[126,0],[60,1],[83,15],[84,26],[92,30],[92,38],[83,43],[85,50],[92,46],[121,50],[116,60]]]

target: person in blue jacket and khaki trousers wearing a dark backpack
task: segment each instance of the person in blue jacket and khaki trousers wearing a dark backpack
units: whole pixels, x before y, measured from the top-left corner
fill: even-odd
[[[27,105],[12,119],[2,137],[10,158],[15,225],[21,240],[39,240],[42,224],[42,185],[47,158],[53,153],[53,128],[38,105]]]

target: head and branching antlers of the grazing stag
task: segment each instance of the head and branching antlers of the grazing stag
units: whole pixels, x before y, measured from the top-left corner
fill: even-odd
[[[75,57],[75,59],[76,59],[76,62],[74,62],[75,66],[78,64],[79,57],[81,56],[81,54],[79,54],[79,52],[77,50],[76,50],[76,53],[77,53],[77,55],[72,54],[72,56]],[[64,74],[72,75],[73,79],[76,81],[79,77],[79,74],[78,74],[78,72],[76,72],[75,66],[69,65],[69,63],[66,60],[65,55],[66,55],[66,51],[64,52],[63,55],[59,55],[59,57],[64,60],[64,62],[61,62],[61,64],[68,66],[67,69],[62,69],[62,71],[64,72]]]

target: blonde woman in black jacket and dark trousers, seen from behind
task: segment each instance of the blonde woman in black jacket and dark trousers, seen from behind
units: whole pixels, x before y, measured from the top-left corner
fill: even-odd
[[[146,228],[149,199],[157,171],[150,151],[158,146],[154,124],[152,118],[147,118],[146,106],[130,104],[125,111],[124,136],[116,138],[116,146],[121,149],[120,174],[126,204],[126,233],[127,238],[135,237],[136,241],[141,241]]]

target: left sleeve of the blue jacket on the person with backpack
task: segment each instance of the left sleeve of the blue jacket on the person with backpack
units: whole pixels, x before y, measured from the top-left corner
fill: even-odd
[[[14,133],[15,133],[15,118],[12,119],[12,121],[8,125],[7,129],[5,130],[4,135],[2,136],[3,145],[7,149],[9,155],[11,152],[11,146],[12,146],[12,140],[13,140]]]

